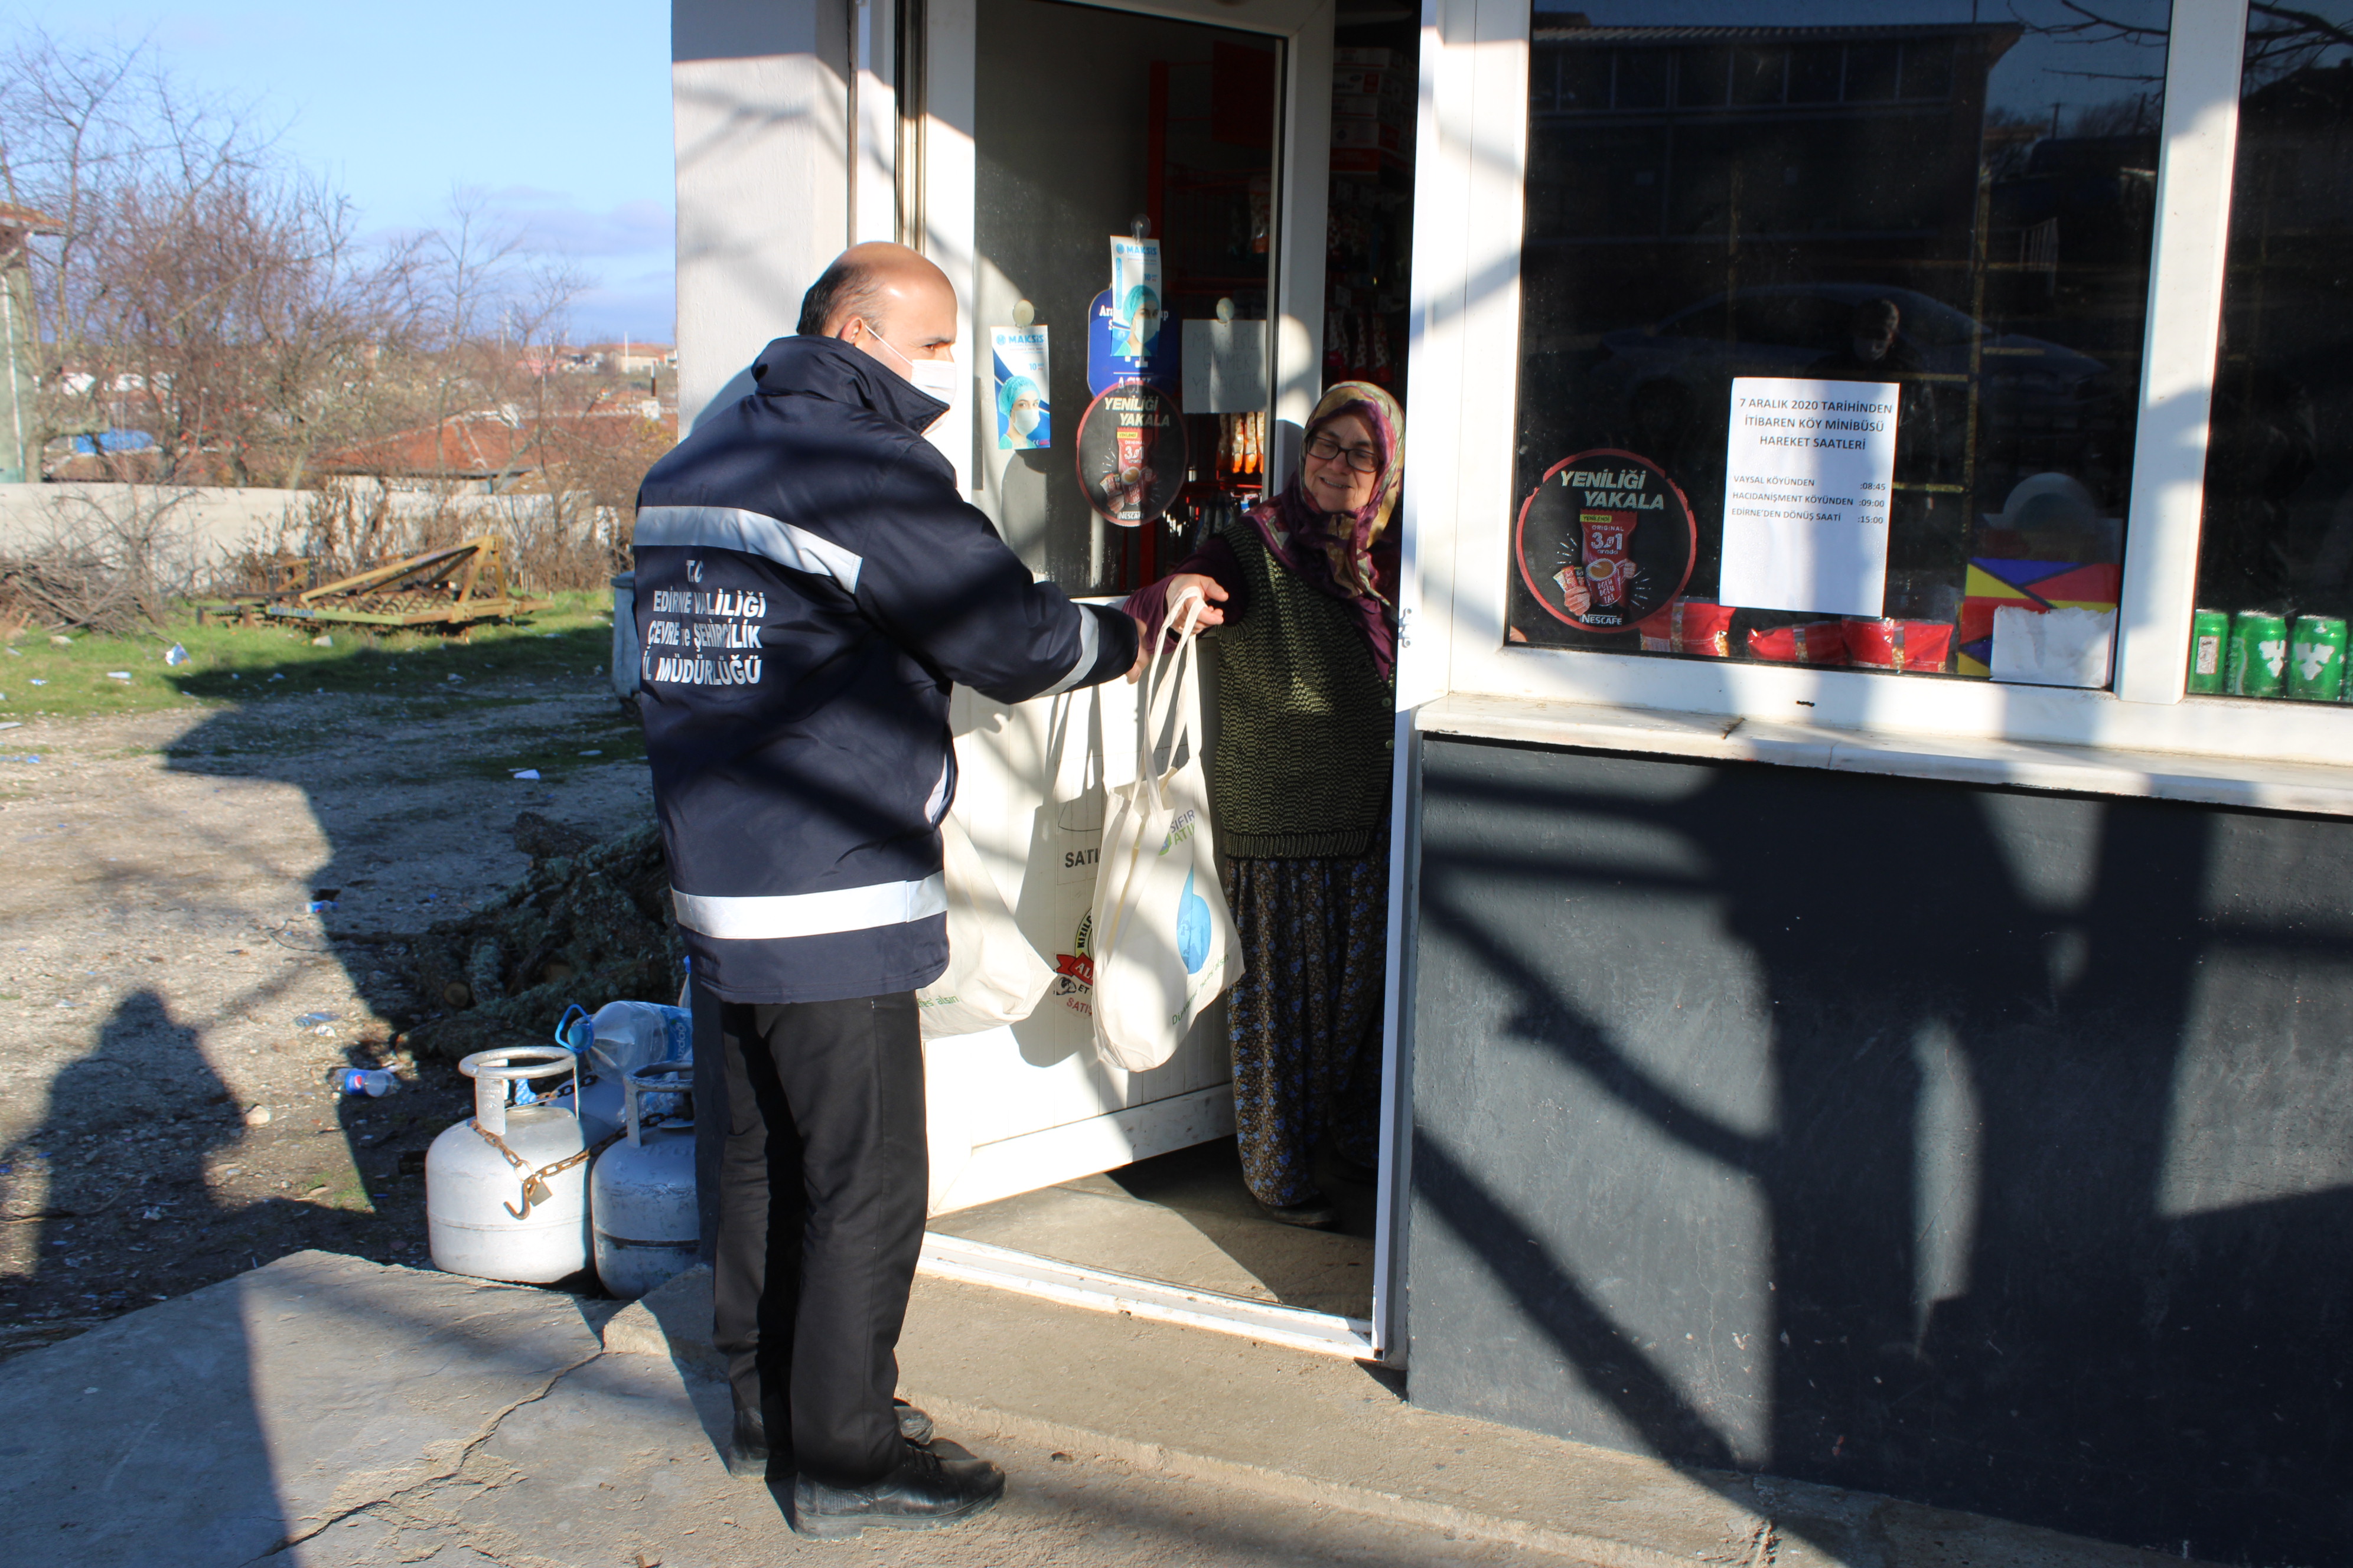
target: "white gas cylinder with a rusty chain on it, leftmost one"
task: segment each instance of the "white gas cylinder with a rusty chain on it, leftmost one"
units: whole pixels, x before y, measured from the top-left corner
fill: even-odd
[[[426,1234],[433,1267],[475,1279],[555,1284],[588,1267],[588,1143],[572,1103],[508,1105],[506,1086],[567,1070],[562,1046],[475,1051],[473,1117],[426,1152]]]

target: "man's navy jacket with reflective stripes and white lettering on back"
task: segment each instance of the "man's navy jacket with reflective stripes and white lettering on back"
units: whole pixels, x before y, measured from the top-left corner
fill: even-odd
[[[948,964],[948,686],[1122,675],[1134,621],[1031,578],[922,440],[946,404],[835,339],[776,339],[638,491],[654,809],[694,973],[833,1001]]]

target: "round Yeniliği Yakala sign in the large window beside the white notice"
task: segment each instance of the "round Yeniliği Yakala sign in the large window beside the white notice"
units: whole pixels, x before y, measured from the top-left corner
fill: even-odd
[[[1555,621],[1624,632],[1682,592],[1699,524],[1666,473],[1609,447],[1544,470],[1511,536],[1520,581]]]

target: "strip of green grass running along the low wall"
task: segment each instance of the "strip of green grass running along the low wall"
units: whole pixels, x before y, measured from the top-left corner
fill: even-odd
[[[435,701],[456,710],[449,693],[478,682],[600,679],[612,661],[609,614],[607,595],[581,590],[555,595],[551,609],[525,621],[485,623],[464,635],[325,623],[198,625],[188,616],[136,637],[73,635],[56,644],[33,628],[0,654],[0,719],[249,705],[315,691]],[[313,637],[327,637],[327,646]],[[174,644],[188,649],[188,663],[165,665]]]

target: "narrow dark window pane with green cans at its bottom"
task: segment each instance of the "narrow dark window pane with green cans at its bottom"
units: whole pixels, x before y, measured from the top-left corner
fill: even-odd
[[[2353,696],[2348,40],[2348,0],[2247,16],[2193,693]]]

